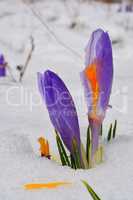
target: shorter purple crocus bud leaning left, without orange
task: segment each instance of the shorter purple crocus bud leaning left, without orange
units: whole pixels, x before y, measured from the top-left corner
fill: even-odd
[[[73,153],[74,141],[80,149],[80,130],[73,99],[64,82],[52,71],[38,73],[40,93],[45,100],[51,122],[67,149]]]

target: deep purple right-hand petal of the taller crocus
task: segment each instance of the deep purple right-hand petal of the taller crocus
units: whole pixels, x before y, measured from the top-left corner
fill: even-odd
[[[112,47],[109,35],[103,33],[97,44],[97,78],[99,82],[99,110],[101,109],[105,115],[108,108],[110,93],[113,80],[113,58]],[[100,112],[99,112],[100,113]]]

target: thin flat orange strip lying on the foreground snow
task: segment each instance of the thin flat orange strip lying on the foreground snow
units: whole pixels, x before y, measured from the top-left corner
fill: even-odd
[[[60,186],[70,185],[71,183],[68,182],[51,182],[51,183],[33,183],[33,184],[26,184],[24,188],[26,190],[33,190],[33,189],[54,189]]]

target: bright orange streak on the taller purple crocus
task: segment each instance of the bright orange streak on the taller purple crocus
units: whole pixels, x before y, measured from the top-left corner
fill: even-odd
[[[99,83],[96,74],[96,64],[93,63],[85,69],[85,76],[89,80],[92,89],[93,115],[96,115],[97,102],[99,97]]]

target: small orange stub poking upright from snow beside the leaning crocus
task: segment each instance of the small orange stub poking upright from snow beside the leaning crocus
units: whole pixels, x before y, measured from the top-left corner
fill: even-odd
[[[40,137],[38,139],[38,142],[40,144],[40,152],[42,157],[47,157],[50,159],[50,151],[49,151],[49,143],[48,140],[46,140],[43,137]]]

